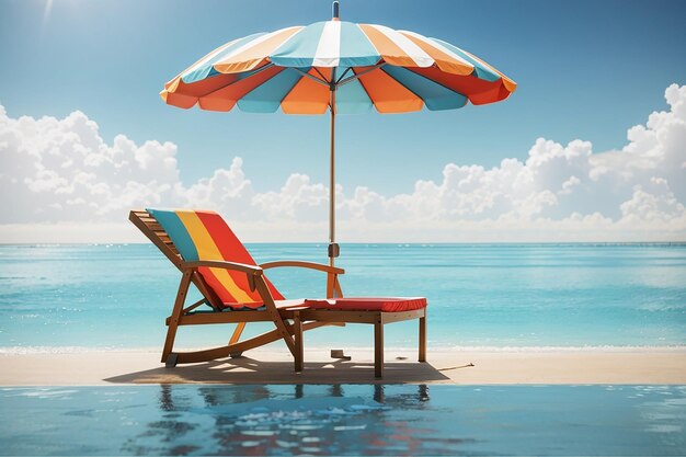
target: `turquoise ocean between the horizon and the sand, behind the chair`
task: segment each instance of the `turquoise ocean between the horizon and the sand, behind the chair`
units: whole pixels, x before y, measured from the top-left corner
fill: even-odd
[[[258,262],[327,260],[323,244],[248,248]],[[427,297],[430,350],[686,345],[686,244],[343,244],[338,265],[347,296]],[[268,276],[287,298],[324,293],[319,272]],[[179,281],[151,244],[0,245],[0,351],[159,349]],[[182,328],[178,345],[222,344],[231,331]],[[371,347],[371,333],[320,329],[306,345]],[[386,339],[415,346],[416,322]]]

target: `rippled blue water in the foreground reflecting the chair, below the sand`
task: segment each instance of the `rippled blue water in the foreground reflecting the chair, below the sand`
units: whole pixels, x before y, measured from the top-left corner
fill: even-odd
[[[686,386],[0,389],[0,455],[686,454]]]

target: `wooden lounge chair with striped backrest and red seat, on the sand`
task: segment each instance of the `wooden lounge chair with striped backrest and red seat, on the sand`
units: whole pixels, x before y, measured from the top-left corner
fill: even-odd
[[[384,324],[420,319],[419,359],[426,353],[426,301],[423,298],[342,298],[339,275],[342,269],[302,261],[277,261],[258,265],[221,216],[198,210],[132,210],[129,220],[182,272],[172,313],[167,318],[162,363],[207,362],[284,340],[304,368],[302,332],[322,325],[369,323],[375,325],[375,375],[384,368]],[[264,270],[305,267],[327,273],[325,300],[286,300],[266,278]],[[191,284],[203,298],[190,306],[185,299]],[[333,298],[338,297],[338,298]],[[211,310],[203,310],[207,305]],[[273,322],[274,330],[240,340],[247,322]],[[174,352],[179,325],[236,323],[228,344],[194,352]]]

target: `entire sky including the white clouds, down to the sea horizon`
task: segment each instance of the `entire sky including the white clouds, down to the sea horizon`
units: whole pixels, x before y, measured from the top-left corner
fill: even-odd
[[[128,209],[149,205],[217,209],[248,241],[325,240],[328,115],[159,92],[230,39],[330,15],[329,0],[0,0],[0,241],[129,240]],[[686,2],[342,0],[341,16],[519,84],[492,105],[339,116],[341,241],[686,240]]]

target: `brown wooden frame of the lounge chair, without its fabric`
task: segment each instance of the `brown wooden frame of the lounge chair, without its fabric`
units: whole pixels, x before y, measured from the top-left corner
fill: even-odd
[[[327,273],[327,298],[343,297],[339,275],[343,269],[302,261],[277,261],[262,265],[247,265],[226,261],[184,262],[169,235],[160,224],[144,209],[132,210],[129,220],[138,227],[160,251],[182,272],[179,290],[174,300],[172,313],[167,318],[167,338],[162,350],[161,362],[167,366],[183,363],[207,362],[222,357],[240,356],[244,351],[284,340],[294,356],[295,370],[301,372],[305,367],[302,333],[322,325],[345,325],[345,323],[367,323],[374,325],[374,374],[381,378],[384,373],[384,325],[410,319],[419,319],[419,362],[426,361],[426,308],[401,311],[346,311],[328,309],[309,309],[305,305],[279,307],[264,281],[264,270],[275,267],[304,267]],[[198,267],[226,269],[242,272],[248,277],[251,290],[258,290],[264,302],[264,310],[222,311],[219,297],[205,283],[198,273]],[[191,284],[195,285],[203,299],[187,307],[186,296]],[[197,312],[195,309],[207,301],[215,312]],[[289,322],[289,321],[293,321]],[[247,340],[240,336],[248,322],[273,322],[274,330]],[[204,351],[174,352],[173,345],[179,325],[198,325],[211,323],[236,323],[237,327],[226,345]]]

